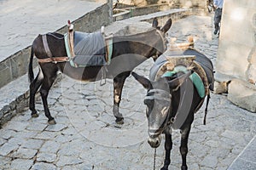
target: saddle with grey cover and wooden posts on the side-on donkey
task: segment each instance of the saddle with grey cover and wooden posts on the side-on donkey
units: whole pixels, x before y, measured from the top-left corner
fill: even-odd
[[[92,33],[73,31],[73,25],[69,23],[64,39],[72,66],[102,66],[110,63],[113,38],[105,37],[103,29]]]

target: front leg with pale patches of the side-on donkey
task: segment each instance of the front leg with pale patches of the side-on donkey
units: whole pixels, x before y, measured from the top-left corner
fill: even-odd
[[[121,101],[125,79],[129,77],[130,74],[131,71],[125,71],[113,78],[113,116],[115,116],[115,122],[118,124],[124,124],[124,117],[121,113],[119,113],[119,104]]]

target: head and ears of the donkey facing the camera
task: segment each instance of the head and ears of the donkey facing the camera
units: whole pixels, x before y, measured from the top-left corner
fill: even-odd
[[[151,147],[157,148],[160,145],[160,134],[172,122],[172,92],[186,81],[191,72],[178,73],[172,77],[171,81],[168,81],[166,77],[161,77],[157,81],[150,81],[135,72],[131,73],[137,82],[140,82],[148,90],[144,104],[147,105],[148,144]]]

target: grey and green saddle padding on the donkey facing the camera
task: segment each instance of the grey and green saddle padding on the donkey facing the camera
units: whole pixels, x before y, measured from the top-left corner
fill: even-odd
[[[168,60],[166,59],[167,56],[185,56],[185,55],[195,55],[195,61],[201,65],[202,69],[205,71],[207,75],[207,82],[209,83],[209,89],[213,90],[213,65],[212,61],[207,58],[204,54],[201,54],[200,52],[196,51],[194,48],[186,48],[186,49],[178,49],[178,50],[167,50],[164,54],[162,54],[156,61],[154,62],[154,65],[152,66],[150,73],[149,73],[149,79],[155,80],[155,77],[157,77],[157,73],[160,70],[160,67]],[[192,81],[195,84],[195,88],[197,88],[199,94],[201,97],[204,96],[204,84],[201,81],[201,78],[198,76],[195,76],[195,74],[192,75]],[[190,77],[191,79],[191,77]]]

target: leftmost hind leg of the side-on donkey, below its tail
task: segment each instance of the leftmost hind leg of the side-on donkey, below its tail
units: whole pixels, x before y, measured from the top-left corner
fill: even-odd
[[[39,68],[38,76],[31,82],[29,86],[30,97],[29,97],[29,109],[32,111],[32,117],[38,117],[38,112],[35,109],[35,95],[38,91],[38,88],[42,85],[43,82],[43,72]]]

